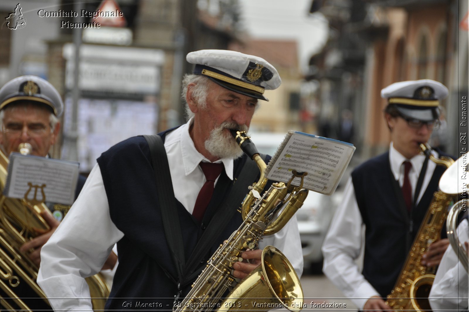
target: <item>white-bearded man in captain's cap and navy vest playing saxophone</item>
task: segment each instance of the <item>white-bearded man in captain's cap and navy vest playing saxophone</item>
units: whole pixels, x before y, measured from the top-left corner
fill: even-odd
[[[133,309],[145,303],[152,310],[171,310],[174,296],[187,295],[208,257],[241,225],[236,212],[241,201],[229,203],[229,212],[223,215],[217,214],[218,208],[235,183],[244,184],[246,194],[259,176],[255,167],[252,178],[241,179],[251,160],[229,129],[248,130],[258,100],[267,100],[264,90],[277,88],[281,80],[264,59],[234,51],[191,52],[187,61],[195,64],[194,73],[183,79],[189,120],[159,133],[170,172],[164,179],[176,200],[169,213],[178,220],[176,235],[182,236],[182,245],[167,242],[161,214],[166,207],[159,202],[147,141],[134,137],[118,143],[98,158],[70,212],[72,218],[59,226],[42,250],[41,257],[47,261],[41,266],[39,283],[48,297],[63,298],[49,299],[55,310],[91,310],[83,277],[98,271],[116,242],[119,266],[106,309]],[[213,192],[210,202],[198,196],[205,185]],[[203,236],[217,226],[211,222],[214,218],[226,219],[227,226],[212,237]],[[200,251],[198,243],[207,246],[199,258],[193,256]],[[277,234],[264,237],[261,245],[242,254],[250,261],[234,264],[235,277],[246,276],[259,264],[266,245],[282,250],[301,275],[303,257],[295,217]],[[181,249],[187,263],[173,257],[173,250]],[[178,265],[182,265],[179,272]],[[187,280],[188,276],[193,277]]]

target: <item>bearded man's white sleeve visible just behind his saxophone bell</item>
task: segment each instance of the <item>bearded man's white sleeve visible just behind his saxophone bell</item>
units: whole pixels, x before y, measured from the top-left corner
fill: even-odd
[[[287,257],[298,277],[303,273],[303,252],[301,249],[298,221],[294,215],[277,233],[264,236],[259,242],[259,249],[272,245]]]

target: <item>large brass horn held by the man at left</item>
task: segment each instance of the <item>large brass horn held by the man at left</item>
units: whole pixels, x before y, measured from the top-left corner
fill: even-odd
[[[29,154],[30,144],[22,143],[19,150]],[[38,266],[19,250],[23,243],[50,230],[41,216],[49,209],[40,201],[5,197],[7,168],[8,158],[0,150],[0,307],[9,311],[52,310],[36,282]],[[93,308],[103,310],[109,296],[106,281],[99,274],[86,281]]]

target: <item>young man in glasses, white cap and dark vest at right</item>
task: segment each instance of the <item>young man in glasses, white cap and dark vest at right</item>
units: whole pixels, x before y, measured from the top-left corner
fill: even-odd
[[[386,296],[398,280],[445,170],[428,161],[419,145],[439,126],[439,101],[447,94],[445,86],[429,79],[402,81],[381,90],[387,100],[389,151],[352,172],[322,248],[324,273],[360,310],[390,309]],[[422,263],[438,265],[448,244],[447,239],[433,242]],[[355,262],[361,251],[362,271]]]

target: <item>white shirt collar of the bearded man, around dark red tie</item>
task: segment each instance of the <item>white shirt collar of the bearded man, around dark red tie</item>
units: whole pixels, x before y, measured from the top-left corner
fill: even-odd
[[[204,155],[200,154],[195,145],[192,141],[192,138],[189,135],[189,128],[190,125],[193,123],[193,118],[190,118],[189,121],[182,125],[181,131],[181,153],[182,153],[182,162],[184,165],[184,172],[186,176],[188,176],[191,172],[193,172],[200,162],[208,162],[210,161],[204,157]],[[223,163],[225,167],[225,172],[227,173],[228,178],[233,180],[233,168],[234,168],[234,160],[233,158],[223,158],[217,160],[215,163]]]

